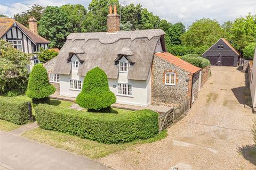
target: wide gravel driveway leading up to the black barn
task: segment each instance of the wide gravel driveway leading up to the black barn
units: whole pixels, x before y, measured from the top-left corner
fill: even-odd
[[[212,67],[199,98],[167,138],[100,161],[117,169],[256,169],[249,155],[255,115],[244,105],[244,86],[236,67]]]

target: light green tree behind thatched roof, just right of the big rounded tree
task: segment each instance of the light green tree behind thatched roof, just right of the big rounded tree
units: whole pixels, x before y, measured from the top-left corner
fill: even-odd
[[[87,10],[83,5],[67,4],[60,7],[68,15],[67,27],[69,32],[84,32],[83,22]]]

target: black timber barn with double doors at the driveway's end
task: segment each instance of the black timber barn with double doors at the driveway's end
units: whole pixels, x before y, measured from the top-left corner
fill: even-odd
[[[237,66],[239,56],[237,50],[224,38],[219,39],[203,54],[203,57],[211,62],[211,65],[222,66]]]

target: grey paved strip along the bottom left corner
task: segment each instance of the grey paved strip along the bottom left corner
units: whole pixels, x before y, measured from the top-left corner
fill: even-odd
[[[0,131],[0,169],[18,170],[110,170],[108,166]]]

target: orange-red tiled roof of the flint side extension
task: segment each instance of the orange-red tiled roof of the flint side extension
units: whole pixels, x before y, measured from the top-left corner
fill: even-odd
[[[162,59],[166,60],[167,62],[174,64],[174,65],[180,67],[181,69],[183,69],[189,73],[192,73],[192,74],[201,70],[201,68],[194,66],[184,60],[181,60],[180,58],[172,55],[171,53],[156,53],[155,56],[162,58]]]

